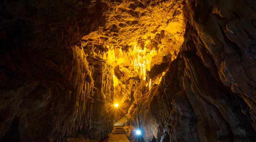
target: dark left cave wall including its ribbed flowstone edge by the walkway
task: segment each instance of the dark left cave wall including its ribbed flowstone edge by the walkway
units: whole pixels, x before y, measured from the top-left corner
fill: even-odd
[[[111,67],[88,66],[80,42],[104,25],[106,8],[88,4],[0,2],[0,141],[99,140],[113,129]]]

